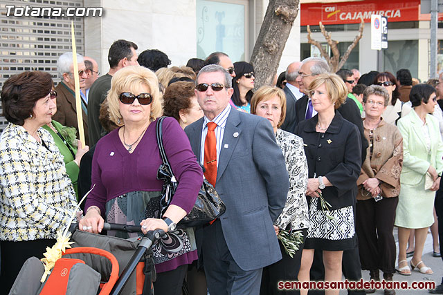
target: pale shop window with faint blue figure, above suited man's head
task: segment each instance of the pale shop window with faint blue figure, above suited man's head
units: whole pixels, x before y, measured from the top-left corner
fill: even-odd
[[[206,59],[210,53],[221,51],[232,61],[244,60],[247,10],[248,1],[197,0],[197,57]]]

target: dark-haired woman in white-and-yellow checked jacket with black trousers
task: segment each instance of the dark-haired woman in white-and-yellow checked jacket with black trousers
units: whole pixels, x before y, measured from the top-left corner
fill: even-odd
[[[55,94],[49,73],[10,77],[1,91],[10,122],[0,137],[0,285],[8,294],[21,265],[43,258],[75,211],[63,156],[41,127],[51,123]]]

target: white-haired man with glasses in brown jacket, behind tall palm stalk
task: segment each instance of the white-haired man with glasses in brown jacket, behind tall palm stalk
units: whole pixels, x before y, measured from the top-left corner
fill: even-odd
[[[55,87],[55,91],[57,91],[57,113],[55,113],[53,116],[53,120],[64,126],[74,127],[77,129],[78,136],[74,75],[78,75],[80,88],[84,88],[86,86],[86,79],[88,78],[88,75],[84,66],[84,59],[82,55],[77,55],[77,62],[78,73],[73,73],[74,66],[72,53],[64,53],[60,55],[59,59],[57,60],[57,72],[62,81],[60,81],[60,83]],[[84,141],[87,145],[89,145],[87,102],[82,91],[80,91],[80,97],[83,115]]]

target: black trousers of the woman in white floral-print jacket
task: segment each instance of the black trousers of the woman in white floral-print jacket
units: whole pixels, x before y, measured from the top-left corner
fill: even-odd
[[[298,271],[300,270],[300,264],[302,261],[302,249],[305,245],[305,237],[307,236],[307,229],[302,229],[302,235],[304,237],[302,245],[300,245],[293,258],[284,251],[284,247],[280,240],[278,241],[280,251],[282,251],[282,260],[263,268],[260,295],[300,294],[300,290],[283,291],[279,290],[277,286],[280,280],[297,280]]]

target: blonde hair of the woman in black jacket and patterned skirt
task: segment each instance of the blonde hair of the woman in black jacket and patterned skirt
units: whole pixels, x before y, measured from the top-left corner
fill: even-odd
[[[312,80],[311,84],[309,84],[309,97],[312,96],[313,91],[323,84],[325,84],[326,93],[329,95],[329,99],[331,99],[335,109],[339,108],[341,104],[345,103],[347,97],[346,84],[343,82],[343,79],[341,79],[340,76],[333,73],[325,73],[316,76],[314,80]]]

